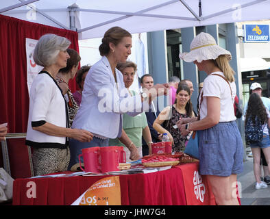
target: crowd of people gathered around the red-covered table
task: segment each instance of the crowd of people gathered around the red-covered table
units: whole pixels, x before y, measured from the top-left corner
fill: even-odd
[[[64,37],[45,34],[34,50],[34,61],[43,66],[29,92],[26,144],[33,147],[35,175],[77,170],[82,149],[92,146],[124,146],[127,160],[139,159],[151,154],[151,144],[161,141],[163,133],[174,152],[184,151],[191,133],[200,130],[200,175],[207,175],[218,205],[238,205],[232,185],[243,171],[243,142],[235,122],[236,85],[229,51],[210,34],[201,33],[189,53],[180,53],[182,60],[208,75],[199,84],[194,108],[194,87],[188,79],[171,77],[169,83],[160,84],[146,74],[140,78],[142,91],[130,90],[137,66],[127,61],[132,35],[125,29],[108,29],[99,47],[101,60],[79,70],[81,57],[69,49],[70,44]],[[72,93],[69,80],[74,77],[79,90]],[[158,96],[167,94],[170,103],[160,112]],[[246,119],[258,113],[251,108],[252,98],[262,102],[258,94],[251,95]],[[262,112],[263,104],[260,108],[260,123],[268,124],[269,111]],[[5,126],[0,126],[1,140]],[[267,164],[270,161],[268,129],[264,134],[261,144],[251,145],[258,187],[260,148]]]

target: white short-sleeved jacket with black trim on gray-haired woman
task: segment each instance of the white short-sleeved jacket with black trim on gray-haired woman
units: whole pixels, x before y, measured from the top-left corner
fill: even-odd
[[[49,136],[32,127],[52,123],[66,128],[69,117],[66,101],[57,82],[47,73],[41,71],[34,79],[29,93],[29,116],[25,144],[34,147],[65,149],[66,137]]]

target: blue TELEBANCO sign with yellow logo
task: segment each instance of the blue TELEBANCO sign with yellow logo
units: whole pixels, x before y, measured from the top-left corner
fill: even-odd
[[[244,42],[269,42],[269,25],[245,25]]]

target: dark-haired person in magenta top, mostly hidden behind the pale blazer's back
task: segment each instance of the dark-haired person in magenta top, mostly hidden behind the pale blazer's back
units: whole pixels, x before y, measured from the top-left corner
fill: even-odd
[[[79,68],[76,74],[76,83],[79,86],[79,90],[73,93],[73,97],[77,105],[81,105],[82,102],[82,90],[84,90],[84,80],[91,66],[82,66]]]

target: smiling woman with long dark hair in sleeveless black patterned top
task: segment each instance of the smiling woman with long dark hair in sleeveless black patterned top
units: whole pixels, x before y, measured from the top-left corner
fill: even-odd
[[[176,91],[175,104],[164,108],[160,112],[153,123],[153,127],[159,133],[168,134],[173,144],[173,151],[184,151],[187,138],[182,136],[180,130],[173,128],[173,126],[181,118],[192,117],[194,117],[194,113],[191,103],[191,90],[186,83],[180,83]]]

